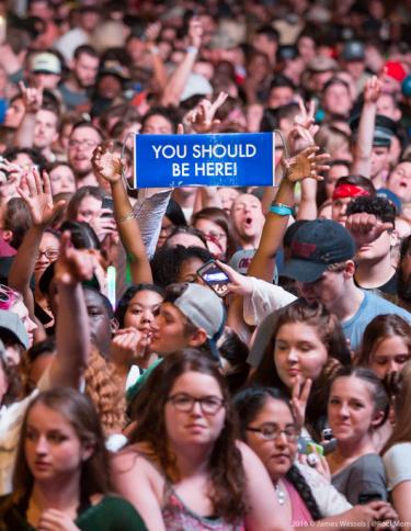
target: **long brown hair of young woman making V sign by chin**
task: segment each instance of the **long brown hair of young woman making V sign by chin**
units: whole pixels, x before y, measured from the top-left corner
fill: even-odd
[[[276,387],[286,396],[290,396],[290,389],[286,387],[278,376],[273,354],[277,332],[283,325],[288,323],[302,323],[313,327],[329,354],[320,375],[312,382],[306,410],[307,427],[313,438],[320,439],[320,432],[327,419],[326,398],[331,377],[341,365],[351,364],[350,350],[341,325],[333,314],[330,314],[320,303],[308,303],[304,300],[296,301],[278,312],[270,342],[265,348],[260,365],[251,379],[253,383]]]

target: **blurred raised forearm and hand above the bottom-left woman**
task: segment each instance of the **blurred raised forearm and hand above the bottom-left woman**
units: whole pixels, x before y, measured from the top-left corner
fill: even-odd
[[[56,341],[57,353],[52,362],[53,386],[78,387],[88,365],[90,350],[89,316],[81,282],[93,275],[93,258],[71,247],[70,235],[61,236],[60,258],[56,262],[58,289]]]

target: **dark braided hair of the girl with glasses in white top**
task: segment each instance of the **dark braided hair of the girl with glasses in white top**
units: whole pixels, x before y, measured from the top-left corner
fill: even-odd
[[[238,416],[240,438],[243,441],[247,442],[248,440],[247,427],[255,419],[270,398],[286,404],[294,418],[289,399],[281,391],[273,387],[249,387],[235,396],[233,405]],[[298,494],[301,496],[312,519],[320,520],[323,518],[309,485],[297,466],[292,465],[285,477],[294,485]]]

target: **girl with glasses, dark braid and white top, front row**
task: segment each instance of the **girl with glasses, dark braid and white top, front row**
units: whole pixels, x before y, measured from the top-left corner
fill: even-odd
[[[278,504],[293,526],[310,529],[321,520],[321,527],[335,529],[342,526],[340,522],[367,527],[368,518],[389,515],[389,506],[384,502],[352,508],[326,477],[296,461],[299,427],[289,400],[279,391],[250,387],[233,402],[240,436],[265,465]]]

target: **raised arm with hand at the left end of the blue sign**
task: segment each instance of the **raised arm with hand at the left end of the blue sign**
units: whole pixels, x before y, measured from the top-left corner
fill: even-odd
[[[119,155],[113,150],[112,143],[105,143],[95,148],[92,161],[94,171],[110,182],[114,215],[121,240],[129,259],[133,282],[151,284],[151,268],[138,222],[123,183]]]

